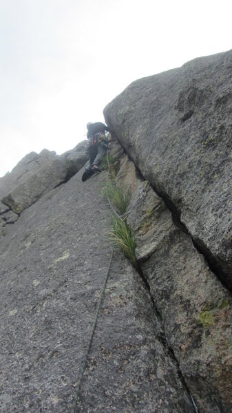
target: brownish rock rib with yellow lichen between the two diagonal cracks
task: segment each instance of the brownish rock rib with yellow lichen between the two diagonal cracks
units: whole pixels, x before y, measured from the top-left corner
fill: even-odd
[[[120,157],[117,178],[131,193],[145,181],[134,162]],[[127,173],[125,174],[125,171]],[[129,175],[129,180],[128,180]],[[136,257],[165,329],[167,344],[200,412],[232,407],[232,300],[191,237],[149,187],[127,222],[136,231]]]

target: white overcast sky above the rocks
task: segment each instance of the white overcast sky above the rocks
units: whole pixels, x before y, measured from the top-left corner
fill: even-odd
[[[231,0],[0,0],[0,176],[60,154],[132,81],[232,48]]]

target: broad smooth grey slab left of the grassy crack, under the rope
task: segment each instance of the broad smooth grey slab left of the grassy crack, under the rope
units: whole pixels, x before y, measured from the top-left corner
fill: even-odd
[[[25,209],[0,244],[1,412],[72,412],[109,265],[107,172]],[[149,290],[116,249],[80,412],[194,412]]]

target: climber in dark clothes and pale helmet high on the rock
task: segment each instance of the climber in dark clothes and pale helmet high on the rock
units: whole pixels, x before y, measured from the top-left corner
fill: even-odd
[[[89,122],[87,123],[87,147],[86,152],[89,155],[89,167],[85,169],[82,180],[85,181],[93,173],[101,172],[101,161],[105,156],[108,147],[108,139],[105,132],[109,131],[104,123]]]

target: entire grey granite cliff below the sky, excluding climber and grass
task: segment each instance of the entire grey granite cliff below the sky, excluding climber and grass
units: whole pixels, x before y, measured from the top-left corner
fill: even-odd
[[[196,59],[105,108],[138,269],[116,247],[77,401],[108,172],[81,181],[84,141],[0,178],[1,412],[232,411],[231,70],[232,52]]]

